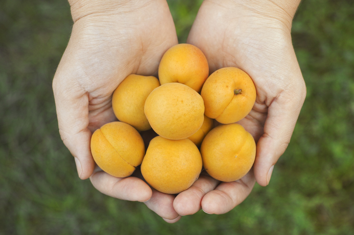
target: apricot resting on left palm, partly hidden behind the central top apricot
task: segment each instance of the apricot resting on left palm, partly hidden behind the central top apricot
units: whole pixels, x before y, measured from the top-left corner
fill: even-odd
[[[112,108],[118,120],[132,125],[138,131],[151,129],[144,113],[146,98],[160,85],[153,76],[131,74],[115,89]]]

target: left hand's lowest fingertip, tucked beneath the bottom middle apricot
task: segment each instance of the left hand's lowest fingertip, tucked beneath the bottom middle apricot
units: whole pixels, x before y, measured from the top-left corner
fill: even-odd
[[[164,194],[153,189],[150,200],[144,202],[145,205],[157,215],[164,219],[174,220],[179,216],[173,208],[174,195]]]

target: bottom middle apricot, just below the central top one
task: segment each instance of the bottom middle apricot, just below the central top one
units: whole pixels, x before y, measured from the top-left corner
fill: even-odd
[[[141,174],[156,190],[178,194],[199,177],[202,161],[197,146],[189,139],[155,137],[150,141]]]

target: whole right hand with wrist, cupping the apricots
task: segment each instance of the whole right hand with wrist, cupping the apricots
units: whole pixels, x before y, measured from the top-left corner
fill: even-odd
[[[204,0],[187,43],[199,47],[210,72],[238,67],[253,79],[256,103],[239,123],[257,141],[253,172],[230,183],[200,176],[180,193],[179,215],[223,214],[241,203],[255,181],[266,186],[278,158],[286,150],[306,96],[304,79],[291,43],[291,22],[297,1]],[[220,183],[220,184],[219,184]]]

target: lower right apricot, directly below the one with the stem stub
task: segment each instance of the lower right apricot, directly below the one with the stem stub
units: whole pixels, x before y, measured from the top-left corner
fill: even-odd
[[[203,166],[215,179],[231,182],[251,169],[256,157],[254,138],[237,123],[212,129],[200,147]]]

